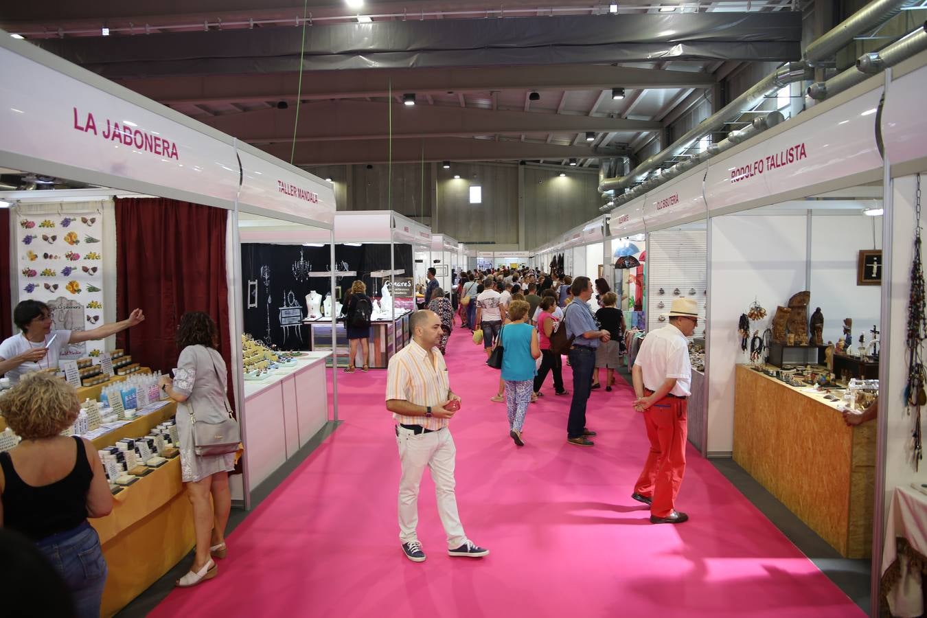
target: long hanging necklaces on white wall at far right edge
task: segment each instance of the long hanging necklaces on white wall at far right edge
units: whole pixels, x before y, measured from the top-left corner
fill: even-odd
[[[911,264],[911,293],[908,299],[908,385],[905,403],[908,415],[914,416],[913,463],[917,471],[923,459],[921,442],[921,407],[927,405],[927,372],[923,364],[923,342],[927,339],[927,312],[924,309],[924,272],[921,262],[921,174],[917,175],[914,201],[914,260]]]

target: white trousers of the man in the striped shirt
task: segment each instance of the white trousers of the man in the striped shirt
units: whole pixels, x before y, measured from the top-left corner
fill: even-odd
[[[400,541],[418,542],[415,528],[418,526],[418,488],[427,466],[435,482],[438,497],[438,515],[448,536],[448,549],[464,545],[464,525],[457,512],[457,497],[454,495],[454,460],[457,448],[448,427],[437,432],[415,435],[413,430],[397,425],[396,444],[400,449]]]

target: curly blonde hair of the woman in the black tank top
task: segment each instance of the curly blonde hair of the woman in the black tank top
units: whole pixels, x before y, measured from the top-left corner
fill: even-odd
[[[58,435],[77,418],[77,390],[49,373],[28,373],[0,397],[0,415],[23,440]]]

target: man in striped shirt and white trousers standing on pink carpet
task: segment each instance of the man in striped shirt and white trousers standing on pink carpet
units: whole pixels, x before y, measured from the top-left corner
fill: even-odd
[[[454,460],[457,449],[448,421],[461,408],[461,398],[451,392],[448,367],[438,350],[441,320],[434,311],[415,311],[409,319],[413,341],[389,359],[387,410],[396,420],[396,444],[400,450],[400,541],[406,557],[425,561],[418,542],[418,488],[425,467],[431,469],[438,496],[438,515],[448,536],[448,554],[481,558],[489,549],[477,547],[464,534],[454,494]]]

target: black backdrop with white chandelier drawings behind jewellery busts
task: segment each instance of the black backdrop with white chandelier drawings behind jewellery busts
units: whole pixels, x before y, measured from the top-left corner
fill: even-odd
[[[395,244],[395,268],[413,271],[412,245]],[[371,279],[370,273],[389,270],[389,245],[335,246],[339,270],[357,271],[357,276],[336,280],[340,287],[337,301],[343,302],[355,279],[367,285],[367,294],[380,296],[383,279]],[[328,277],[303,277],[300,271],[327,271],[331,264],[331,247],[269,245],[244,243],[241,246],[241,271],[244,281],[245,332],[280,349],[309,349],[309,329],[300,321],[306,317],[306,295],[315,290],[328,294]],[[345,269],[347,265],[347,269]]]

